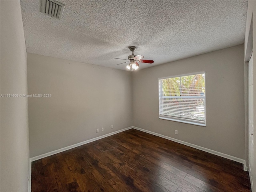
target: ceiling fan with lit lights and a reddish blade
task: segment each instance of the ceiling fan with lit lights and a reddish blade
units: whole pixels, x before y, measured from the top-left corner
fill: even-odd
[[[126,60],[126,62],[123,62],[123,63],[130,62],[126,66],[127,69],[129,69],[131,71],[132,70],[137,70],[139,68],[138,62],[140,62],[140,63],[154,63],[153,60],[145,60],[145,59],[143,59],[144,56],[142,56],[142,55],[134,55],[133,52],[136,50],[135,46],[130,46],[129,49],[132,52],[132,54],[128,56],[128,59],[122,59],[122,60]],[[114,59],[120,59],[120,58],[114,58]],[[123,64],[123,63],[120,63],[120,64]],[[117,65],[120,65],[120,64],[117,64]]]

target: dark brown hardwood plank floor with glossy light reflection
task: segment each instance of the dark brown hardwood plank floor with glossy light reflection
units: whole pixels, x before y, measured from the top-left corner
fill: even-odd
[[[250,192],[240,163],[138,130],[32,162],[32,192]]]

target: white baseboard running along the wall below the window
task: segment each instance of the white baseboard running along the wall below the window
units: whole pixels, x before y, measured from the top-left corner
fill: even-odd
[[[185,141],[174,139],[174,138],[171,138],[171,137],[168,137],[168,136],[165,136],[165,135],[161,135],[161,134],[158,134],[158,133],[155,133],[155,132],[152,132],[152,131],[148,131],[148,130],[145,130],[145,129],[142,129],[142,128],[138,128],[138,127],[134,127],[134,126],[132,126],[132,128],[136,129],[136,130],[139,130],[139,131],[143,131],[143,132],[152,134],[152,135],[155,135],[155,136],[158,136],[158,137],[162,137],[162,138],[165,138],[165,139],[168,139],[168,140],[180,143],[180,144],[184,144],[186,146],[190,146],[192,148],[196,148],[196,149],[199,149],[201,151],[205,151],[205,152],[208,152],[208,153],[220,156],[220,157],[224,157],[226,159],[230,159],[230,160],[242,163],[244,165],[244,171],[248,170],[248,167],[246,166],[246,164],[245,164],[246,162],[245,162],[244,159],[240,159],[240,158],[237,158],[237,157],[234,157],[234,156],[230,156],[230,155],[218,152],[218,151],[214,151],[214,150],[207,149],[207,148],[204,148],[204,147],[201,147],[201,146],[198,146],[198,145],[194,145],[194,144],[191,144],[191,143],[188,143],[188,142],[185,142]]]

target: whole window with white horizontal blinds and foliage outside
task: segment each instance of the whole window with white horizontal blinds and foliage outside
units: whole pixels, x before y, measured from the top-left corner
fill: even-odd
[[[159,78],[159,118],[206,126],[205,72]]]

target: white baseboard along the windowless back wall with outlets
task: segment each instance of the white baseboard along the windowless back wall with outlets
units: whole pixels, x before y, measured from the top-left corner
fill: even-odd
[[[99,140],[99,139],[102,139],[102,138],[105,138],[105,137],[108,137],[108,136],[111,136],[111,135],[129,130],[129,129],[132,129],[132,127],[124,128],[124,129],[121,129],[121,130],[118,130],[118,131],[115,131],[115,132],[112,132],[112,133],[108,133],[106,135],[102,135],[102,136],[99,136],[99,137],[96,137],[96,138],[93,138],[93,139],[89,139],[89,140],[86,140],[86,141],[83,141],[83,142],[80,142],[80,143],[77,143],[77,144],[74,144],[74,145],[70,145],[70,146],[67,146],[67,147],[64,147],[64,148],[61,148],[61,149],[58,149],[58,150],[54,150],[54,151],[51,151],[51,152],[48,152],[48,153],[45,153],[45,154],[42,154],[42,155],[38,155],[38,156],[30,158],[30,161],[31,162],[36,161],[36,160],[39,160],[39,159],[42,159],[42,158],[45,158],[45,157],[48,157],[48,156],[51,156],[51,155],[69,150],[69,149],[72,149],[72,148],[75,148],[75,147],[78,147],[78,146],[81,146],[81,145],[84,145],[84,144],[87,144],[87,143],[90,143],[90,142],[93,142],[93,141],[96,141],[96,140]]]

